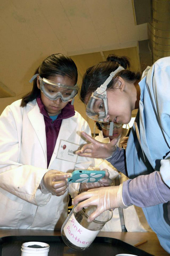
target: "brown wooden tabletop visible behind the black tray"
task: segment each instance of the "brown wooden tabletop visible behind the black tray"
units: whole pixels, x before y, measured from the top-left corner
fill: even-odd
[[[24,230],[24,229],[0,229],[0,237],[3,236],[59,236],[60,231],[53,230]],[[130,245],[144,242],[137,247],[155,256],[168,256],[159,244],[155,233],[151,232],[100,232],[99,236],[113,237],[120,239]],[[147,242],[146,242],[147,241]]]

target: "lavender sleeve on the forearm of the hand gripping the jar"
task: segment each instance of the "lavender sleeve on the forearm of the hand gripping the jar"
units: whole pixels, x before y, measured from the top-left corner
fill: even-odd
[[[122,198],[125,205],[149,207],[170,200],[170,188],[162,181],[159,171],[140,175],[123,183]]]

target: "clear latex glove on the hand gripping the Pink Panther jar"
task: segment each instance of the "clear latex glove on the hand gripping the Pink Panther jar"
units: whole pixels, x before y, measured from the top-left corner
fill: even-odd
[[[119,186],[90,189],[87,192],[79,194],[73,199],[72,204],[76,205],[77,203],[79,204],[74,209],[75,212],[78,212],[83,207],[87,207],[89,205],[97,206],[96,210],[88,217],[88,222],[93,221],[105,210],[118,207],[127,208],[122,199],[122,184]]]

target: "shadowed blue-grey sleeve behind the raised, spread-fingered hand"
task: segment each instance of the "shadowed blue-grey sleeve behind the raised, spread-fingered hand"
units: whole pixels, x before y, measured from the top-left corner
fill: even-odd
[[[114,151],[113,155],[107,161],[118,171],[125,174],[125,150],[123,148],[116,147],[116,151]]]

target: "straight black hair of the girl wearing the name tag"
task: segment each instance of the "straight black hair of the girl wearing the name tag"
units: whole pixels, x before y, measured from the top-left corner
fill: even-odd
[[[77,83],[77,67],[74,61],[64,54],[57,53],[48,56],[38,67],[34,74],[40,74],[40,77],[48,79],[57,75],[69,77]],[[34,79],[32,91],[22,98],[21,107],[25,107],[28,102],[40,96],[40,89],[37,87],[37,79]]]

